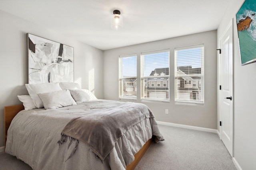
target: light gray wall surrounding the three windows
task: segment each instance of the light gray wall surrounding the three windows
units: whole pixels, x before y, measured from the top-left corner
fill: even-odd
[[[217,129],[217,87],[216,87],[216,31],[165,39],[104,51],[104,99],[118,99],[118,56],[159,49],[170,49],[170,103],[143,102],[153,111],[157,121],[178,123]],[[205,104],[204,106],[185,106],[174,104],[174,48],[204,43],[205,62]],[[138,63],[137,62],[137,63]],[[139,68],[137,76],[140,77]],[[139,79],[139,78],[138,78]],[[139,80],[140,81],[140,80]],[[140,90],[140,88],[137,88]],[[140,92],[138,91],[138,94]],[[140,102],[139,100],[137,102]],[[165,114],[169,109],[169,114]]]

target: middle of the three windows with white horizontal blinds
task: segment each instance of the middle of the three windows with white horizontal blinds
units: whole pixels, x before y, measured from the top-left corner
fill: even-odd
[[[169,102],[170,50],[141,53],[141,100]]]

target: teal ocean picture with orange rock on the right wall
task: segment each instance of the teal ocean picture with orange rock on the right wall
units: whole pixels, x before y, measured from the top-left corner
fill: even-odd
[[[256,62],[256,3],[245,0],[236,14],[241,64]]]

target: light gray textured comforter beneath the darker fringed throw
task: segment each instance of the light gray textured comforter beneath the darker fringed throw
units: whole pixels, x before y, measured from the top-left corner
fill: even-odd
[[[23,160],[33,170],[125,170],[152,134],[161,136],[154,117],[142,120],[118,138],[104,162],[97,159],[92,149],[83,142],[79,143],[69,159],[76,143],[68,138],[61,147],[58,145],[65,126],[84,112],[103,109],[104,104],[100,101],[105,100],[58,109],[20,111],[8,129],[6,153]]]

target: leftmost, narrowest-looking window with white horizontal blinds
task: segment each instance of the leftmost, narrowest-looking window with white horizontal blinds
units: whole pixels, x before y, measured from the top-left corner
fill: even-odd
[[[137,98],[137,56],[119,56],[119,99]]]

